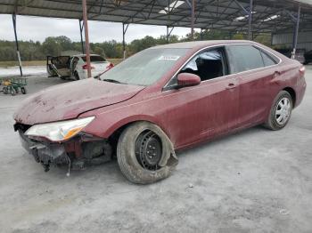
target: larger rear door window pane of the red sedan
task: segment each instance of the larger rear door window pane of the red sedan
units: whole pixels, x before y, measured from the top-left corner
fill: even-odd
[[[226,46],[231,74],[265,67],[259,49],[249,44],[233,44]]]

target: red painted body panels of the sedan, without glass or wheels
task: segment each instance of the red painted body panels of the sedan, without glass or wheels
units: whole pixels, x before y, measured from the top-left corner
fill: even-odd
[[[211,41],[193,45],[160,80],[148,87],[84,80],[54,86],[25,100],[16,121],[27,125],[95,116],[84,132],[108,138],[119,127],[135,121],[150,121],[168,134],[176,149],[207,141],[222,134],[263,123],[278,92],[291,88],[295,106],[303,98],[306,83],[301,65],[266,46],[259,47],[282,59],[276,66],[211,79],[201,84],[162,91],[194,52],[209,45],[249,43]],[[175,46],[174,44],[172,45]],[[179,76],[196,83],[194,76]]]

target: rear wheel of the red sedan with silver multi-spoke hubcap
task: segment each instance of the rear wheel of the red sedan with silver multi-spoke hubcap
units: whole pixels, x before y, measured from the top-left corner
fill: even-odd
[[[270,109],[269,116],[265,127],[270,130],[280,130],[287,125],[291,118],[292,98],[291,94],[286,91],[281,91],[275,97],[273,105]]]

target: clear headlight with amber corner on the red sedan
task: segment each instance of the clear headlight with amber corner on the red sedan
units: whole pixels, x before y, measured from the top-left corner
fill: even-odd
[[[89,116],[76,120],[33,125],[25,135],[45,137],[51,141],[64,141],[79,133],[86,125],[92,122],[94,118],[94,116]]]

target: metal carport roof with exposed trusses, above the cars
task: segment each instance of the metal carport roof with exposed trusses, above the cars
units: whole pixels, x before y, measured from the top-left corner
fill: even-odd
[[[191,27],[191,0],[87,0],[89,20]],[[245,31],[250,0],[196,0],[194,28]],[[252,31],[293,29],[301,5],[300,30],[312,30],[312,1],[254,0]],[[168,12],[168,5],[170,5]],[[167,7],[167,9],[166,9]],[[242,9],[245,8],[245,11]],[[0,13],[81,19],[81,0],[0,0]]]

